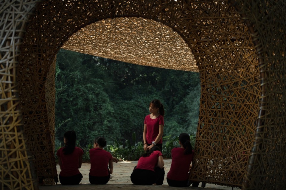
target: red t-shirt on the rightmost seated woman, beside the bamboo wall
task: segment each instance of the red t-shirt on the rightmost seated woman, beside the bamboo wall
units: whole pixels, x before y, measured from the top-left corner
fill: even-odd
[[[194,150],[192,154],[185,155],[184,148],[173,148],[172,151],[172,164],[167,178],[170,180],[188,180],[189,167],[193,160]]]

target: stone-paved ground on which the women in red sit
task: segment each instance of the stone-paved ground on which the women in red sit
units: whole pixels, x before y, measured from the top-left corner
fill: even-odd
[[[199,187],[184,187],[184,188],[175,188],[168,186],[166,176],[167,173],[170,170],[171,167],[171,159],[164,160],[165,166],[165,179],[164,184],[162,186],[136,186],[133,185],[133,183],[130,180],[130,175],[132,173],[132,170],[134,166],[137,165],[137,161],[122,161],[118,163],[114,163],[114,169],[113,169],[113,178],[109,180],[109,182],[106,185],[92,185],[89,183],[88,180],[88,173],[90,169],[90,163],[83,163],[82,167],[80,168],[80,172],[83,175],[83,179],[79,185],[61,185],[60,183],[57,183],[57,185],[46,185],[46,186],[39,186],[40,190],[68,190],[68,189],[74,189],[74,190],[80,190],[80,189],[89,189],[89,190],[97,190],[97,189],[120,189],[120,190],[133,190],[133,189],[165,189],[165,190],[176,190],[176,189],[204,189],[204,190],[211,190],[211,189],[222,189],[222,190],[232,190],[231,187],[227,186],[220,186],[220,185],[214,185],[214,184],[206,184],[205,188],[201,187],[201,183],[199,184]],[[57,173],[60,173],[60,167],[57,165]],[[236,188],[234,188],[236,189]]]

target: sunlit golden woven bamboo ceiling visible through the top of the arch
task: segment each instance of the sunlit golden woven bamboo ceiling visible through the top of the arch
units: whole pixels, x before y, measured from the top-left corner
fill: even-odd
[[[144,18],[114,18],[82,28],[64,49],[175,70],[198,72],[191,49],[177,32]]]

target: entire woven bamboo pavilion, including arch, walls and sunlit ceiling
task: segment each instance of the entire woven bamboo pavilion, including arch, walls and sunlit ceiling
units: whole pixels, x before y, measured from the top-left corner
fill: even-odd
[[[284,10],[276,0],[0,1],[1,189],[57,180],[60,48],[200,72],[192,180],[286,189]]]

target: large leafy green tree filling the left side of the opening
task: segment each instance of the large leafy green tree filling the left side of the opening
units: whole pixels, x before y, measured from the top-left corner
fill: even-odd
[[[56,137],[74,130],[80,145],[87,145],[101,135],[111,140],[118,133],[113,107],[104,91],[105,81],[93,77],[83,62],[83,54],[61,50],[56,67]],[[56,125],[58,126],[58,125]]]

